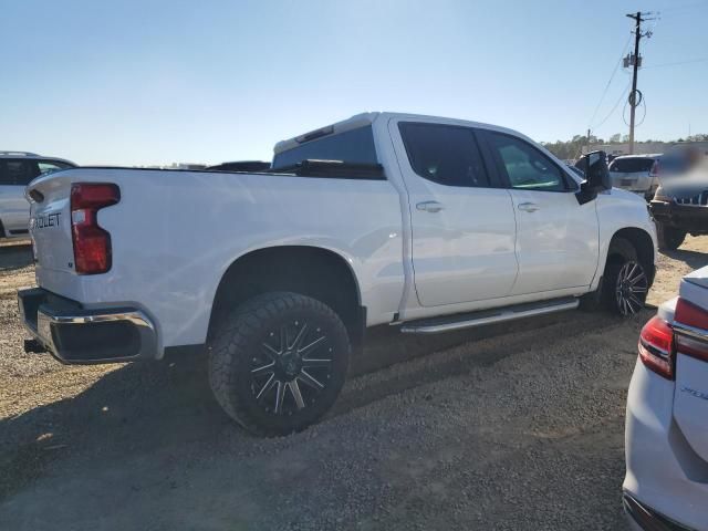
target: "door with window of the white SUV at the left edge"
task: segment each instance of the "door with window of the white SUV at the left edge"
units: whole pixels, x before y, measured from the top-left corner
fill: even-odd
[[[38,175],[35,160],[0,158],[0,222],[7,236],[28,232],[30,204],[24,187]]]

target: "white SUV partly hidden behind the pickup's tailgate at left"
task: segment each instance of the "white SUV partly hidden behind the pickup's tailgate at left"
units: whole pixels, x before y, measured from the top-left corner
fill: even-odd
[[[33,153],[0,152],[0,239],[27,237],[30,204],[24,198],[24,187],[32,179],[75,166],[69,160]]]

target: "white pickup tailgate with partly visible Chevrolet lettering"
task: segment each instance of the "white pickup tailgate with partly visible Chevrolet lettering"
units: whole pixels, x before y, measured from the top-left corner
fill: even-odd
[[[73,272],[71,170],[33,180],[27,195],[31,198],[30,236],[38,272]]]

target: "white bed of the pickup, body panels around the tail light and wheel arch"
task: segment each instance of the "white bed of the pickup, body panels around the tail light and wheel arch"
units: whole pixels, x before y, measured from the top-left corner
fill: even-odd
[[[119,187],[119,202],[97,212],[112,239],[107,273],[74,271],[74,183]],[[402,299],[400,202],[382,178],[82,167],[33,181],[28,196],[40,195],[31,209],[40,285],[86,309],[129,305],[154,316],[160,353],[204,343],[221,277],[264,247],[313,246],[343,257],[363,279],[373,324],[389,321],[393,312],[383,309]]]

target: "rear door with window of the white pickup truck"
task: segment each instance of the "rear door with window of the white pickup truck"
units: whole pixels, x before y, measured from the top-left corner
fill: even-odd
[[[408,192],[419,303],[508,295],[517,275],[513,206],[490,180],[475,132],[397,119],[389,132]]]

